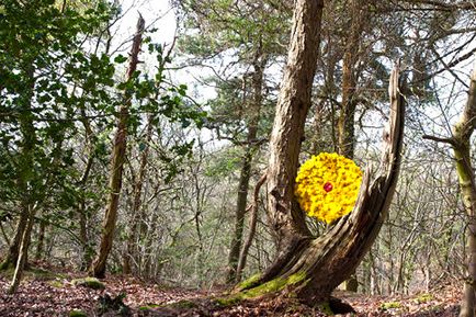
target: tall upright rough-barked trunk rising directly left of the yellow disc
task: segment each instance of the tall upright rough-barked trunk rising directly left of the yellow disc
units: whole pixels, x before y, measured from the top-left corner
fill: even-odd
[[[295,2],[287,65],[271,133],[268,210],[279,252],[295,239],[310,236],[304,213],[293,197],[304,122],[310,107],[322,9],[322,0]]]

